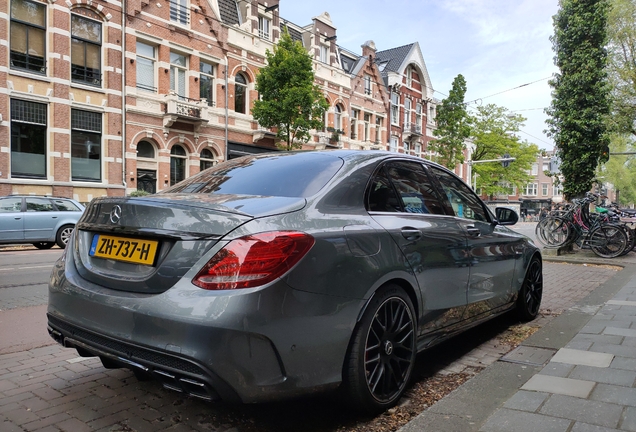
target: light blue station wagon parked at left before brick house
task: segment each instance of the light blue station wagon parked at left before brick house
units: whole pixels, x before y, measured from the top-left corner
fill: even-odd
[[[38,249],[66,247],[84,206],[69,198],[0,197],[0,244],[31,243]]]

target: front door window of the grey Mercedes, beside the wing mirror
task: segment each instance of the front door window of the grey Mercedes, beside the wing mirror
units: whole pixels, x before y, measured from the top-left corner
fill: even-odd
[[[439,179],[455,216],[483,222],[490,220],[479,197],[464,182],[439,168],[430,169]]]

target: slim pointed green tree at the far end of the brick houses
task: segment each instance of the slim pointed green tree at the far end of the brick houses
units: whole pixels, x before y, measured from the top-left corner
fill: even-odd
[[[466,140],[470,136],[465,94],[466,80],[459,74],[453,80],[448,97],[437,106],[437,128],[433,132],[437,139],[429,143],[429,150],[437,153],[436,161],[450,169],[464,162]]]

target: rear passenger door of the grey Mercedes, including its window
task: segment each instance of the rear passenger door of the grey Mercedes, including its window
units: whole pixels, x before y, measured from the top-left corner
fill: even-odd
[[[466,236],[456,218],[445,214],[422,164],[395,160],[383,165],[373,177],[367,205],[417,278],[422,298],[419,333],[461,320],[469,275]]]

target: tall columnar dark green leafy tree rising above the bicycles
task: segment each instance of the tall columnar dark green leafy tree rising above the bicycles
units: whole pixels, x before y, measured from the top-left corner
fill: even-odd
[[[560,0],[550,37],[559,72],[550,80],[548,136],[561,159],[566,198],[589,191],[609,144],[608,0]]]

